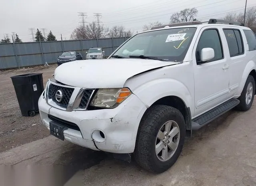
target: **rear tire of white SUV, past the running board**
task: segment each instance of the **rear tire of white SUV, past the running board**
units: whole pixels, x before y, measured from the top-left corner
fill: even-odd
[[[248,90],[250,86],[252,86],[252,91]],[[248,111],[252,107],[254,94],[255,94],[255,80],[252,77],[252,75],[248,75],[244,85],[244,89],[240,97],[238,98],[240,103],[236,106],[236,109],[239,111]],[[247,100],[248,95],[249,95],[249,98],[250,97],[251,98]]]

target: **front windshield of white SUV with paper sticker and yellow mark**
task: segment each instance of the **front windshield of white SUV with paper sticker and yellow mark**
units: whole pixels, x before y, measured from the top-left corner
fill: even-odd
[[[196,28],[173,28],[138,34],[113,55],[149,56],[163,61],[183,61]]]

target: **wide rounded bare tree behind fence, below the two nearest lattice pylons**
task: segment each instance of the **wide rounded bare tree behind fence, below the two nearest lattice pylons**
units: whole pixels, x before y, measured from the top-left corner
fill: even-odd
[[[73,40],[106,38],[108,33],[109,29],[107,27],[98,25],[96,22],[90,22],[86,26],[81,25],[75,28],[70,38]]]

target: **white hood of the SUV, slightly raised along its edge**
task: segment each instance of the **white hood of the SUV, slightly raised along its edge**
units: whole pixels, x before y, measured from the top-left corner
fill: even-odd
[[[120,88],[134,75],[175,64],[152,59],[79,60],[58,66],[54,78],[75,87]]]

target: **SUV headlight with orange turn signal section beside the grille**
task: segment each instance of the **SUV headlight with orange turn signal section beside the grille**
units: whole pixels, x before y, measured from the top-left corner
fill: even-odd
[[[98,89],[90,105],[102,108],[115,108],[131,94],[132,92],[128,88]]]

